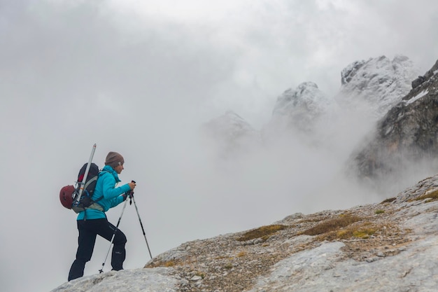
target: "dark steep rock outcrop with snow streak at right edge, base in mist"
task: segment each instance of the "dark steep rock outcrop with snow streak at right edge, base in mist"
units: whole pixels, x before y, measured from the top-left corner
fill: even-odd
[[[438,62],[378,123],[353,153],[358,175],[372,183],[420,179],[438,160]]]

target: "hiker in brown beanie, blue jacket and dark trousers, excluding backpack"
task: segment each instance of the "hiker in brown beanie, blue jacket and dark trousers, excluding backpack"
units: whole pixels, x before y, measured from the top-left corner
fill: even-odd
[[[97,200],[97,204],[102,207],[99,209],[103,209],[103,211],[89,208],[78,214],[78,251],[76,252],[76,260],[73,261],[70,268],[69,281],[83,276],[85,263],[91,259],[97,235],[104,237],[110,242],[114,235],[111,266],[113,270],[123,270],[127,240],[125,234],[120,229],[115,228],[113,224],[108,222],[105,212],[127,200],[129,193],[136,186],[136,183],[132,181],[115,188],[115,185],[120,182],[118,174],[124,169],[124,162],[125,160],[122,155],[117,152],[109,152],[106,155],[105,167],[99,173],[96,188],[92,196],[92,200]],[[99,198],[101,200],[98,200]]]

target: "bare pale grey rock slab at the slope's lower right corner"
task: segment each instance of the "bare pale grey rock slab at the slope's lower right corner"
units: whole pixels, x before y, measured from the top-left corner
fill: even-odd
[[[411,244],[395,256],[343,260],[344,244],[327,242],[281,260],[250,291],[437,291],[437,209],[421,204],[395,214],[409,218],[403,227],[413,230]]]

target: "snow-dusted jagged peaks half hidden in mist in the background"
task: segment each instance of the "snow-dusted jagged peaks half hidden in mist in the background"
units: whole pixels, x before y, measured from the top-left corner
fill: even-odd
[[[409,93],[417,74],[413,62],[404,56],[356,61],[341,71],[341,88],[334,97],[325,95],[316,83],[303,82],[277,97],[271,120],[261,130],[255,130],[236,113],[228,112],[206,123],[204,134],[213,138],[222,158],[245,155],[251,148],[269,147],[283,138],[324,144],[327,137],[339,135],[345,125],[353,124],[351,116],[362,120],[362,124],[372,123],[355,129],[358,133],[355,135],[363,136]]]

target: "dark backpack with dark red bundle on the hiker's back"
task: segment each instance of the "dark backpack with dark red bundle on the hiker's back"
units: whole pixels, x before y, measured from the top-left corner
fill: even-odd
[[[104,209],[97,202],[104,197],[99,197],[99,199],[93,201],[92,195],[94,194],[94,188],[96,188],[97,178],[99,177],[99,167],[92,163],[88,171],[87,178],[84,180],[85,170],[87,168],[87,163],[79,170],[78,181],[76,181],[76,188],[74,186],[64,186],[59,192],[59,200],[62,206],[67,209],[73,209],[76,213],[84,211],[86,209],[98,209],[103,211]],[[84,183],[84,184],[83,184]],[[79,202],[77,198],[79,195],[80,188],[83,186],[82,194],[80,195]]]

